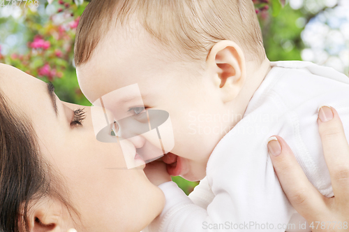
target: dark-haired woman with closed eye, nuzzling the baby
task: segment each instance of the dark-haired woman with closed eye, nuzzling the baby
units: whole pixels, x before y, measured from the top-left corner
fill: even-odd
[[[126,168],[119,144],[96,140],[89,107],[48,87],[0,64],[0,231],[141,231],[162,191],[144,166]]]

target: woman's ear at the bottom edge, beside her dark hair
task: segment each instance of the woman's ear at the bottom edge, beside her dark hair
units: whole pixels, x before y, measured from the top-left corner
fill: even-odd
[[[62,205],[57,201],[43,198],[29,203],[27,224],[30,232],[61,232],[64,219]]]

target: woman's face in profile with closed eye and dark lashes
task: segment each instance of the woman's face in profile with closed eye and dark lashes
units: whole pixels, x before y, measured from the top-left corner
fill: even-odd
[[[3,93],[31,119],[40,154],[63,177],[86,231],[140,231],[161,212],[161,189],[144,166],[126,168],[119,143],[96,140],[89,107],[52,99],[45,82],[11,66],[0,64],[0,73]],[[86,111],[82,126],[71,124],[78,108]]]

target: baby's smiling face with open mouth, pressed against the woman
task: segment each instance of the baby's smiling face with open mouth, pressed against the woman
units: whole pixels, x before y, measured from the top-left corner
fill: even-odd
[[[169,173],[200,180],[205,177],[209,155],[229,131],[228,122],[218,118],[226,106],[209,78],[212,73],[200,71],[194,61],[168,57],[170,52],[139,27],[127,34],[114,30],[98,43],[91,59],[77,67],[77,78],[92,103],[115,89],[137,83],[146,109],[170,114],[174,133],[171,153],[178,157],[177,163],[168,166]],[[131,100],[120,109],[133,115],[137,107],[139,103]]]

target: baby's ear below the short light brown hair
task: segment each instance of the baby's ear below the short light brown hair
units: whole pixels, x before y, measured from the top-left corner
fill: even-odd
[[[239,45],[232,41],[216,43],[207,57],[207,67],[223,92],[223,100],[235,99],[246,81],[244,52]]]

